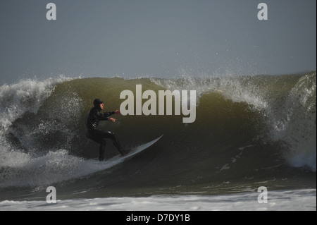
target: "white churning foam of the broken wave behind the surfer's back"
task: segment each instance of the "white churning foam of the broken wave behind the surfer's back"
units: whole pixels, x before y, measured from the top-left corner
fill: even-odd
[[[37,132],[42,131],[41,127],[35,130],[27,129],[25,135],[20,137],[20,142],[25,147],[31,146],[28,152],[15,147],[7,136],[11,132],[18,137],[19,134],[11,128],[13,122],[25,113],[37,114],[37,111],[45,99],[54,91],[56,85],[67,80],[72,80],[72,78],[61,76],[60,78],[43,81],[21,80],[19,83],[0,87],[0,168],[4,169],[0,174],[1,188],[8,186],[40,186],[63,181],[71,178],[71,174],[74,173],[74,166],[82,162],[82,159],[70,156],[66,150],[32,152],[34,143],[32,143],[30,137],[37,136]],[[53,127],[52,124],[40,123],[39,126],[41,125],[45,127],[44,132]],[[24,128],[21,126],[18,129],[23,130]],[[56,170],[67,172],[63,171],[62,176],[61,173],[55,173]],[[80,176],[81,171],[75,173]]]

